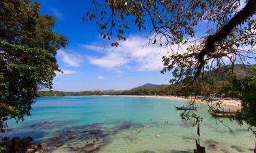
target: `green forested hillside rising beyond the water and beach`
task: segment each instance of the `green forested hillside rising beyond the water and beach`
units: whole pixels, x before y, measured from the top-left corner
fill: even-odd
[[[212,82],[206,84],[206,86],[211,86],[212,93],[223,94],[223,86],[227,84],[228,72],[231,72],[231,65],[227,65],[212,71],[205,71],[203,73],[203,78],[205,80],[210,80]],[[234,65],[233,75],[237,78],[242,79],[251,72],[251,65]],[[81,92],[63,92],[63,91],[39,91],[38,95],[43,96],[81,96],[81,95],[192,95],[192,92],[187,92],[189,87],[186,83],[192,78],[186,78],[174,85],[167,84],[144,84],[143,86],[138,86],[132,88],[131,90],[104,90],[104,91],[81,91]],[[183,86],[184,87],[180,87]]]

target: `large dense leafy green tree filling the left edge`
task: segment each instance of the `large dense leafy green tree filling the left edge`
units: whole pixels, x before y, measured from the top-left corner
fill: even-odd
[[[40,88],[52,88],[55,55],[67,39],[53,31],[55,18],[40,15],[31,0],[0,1],[0,129],[24,120]]]

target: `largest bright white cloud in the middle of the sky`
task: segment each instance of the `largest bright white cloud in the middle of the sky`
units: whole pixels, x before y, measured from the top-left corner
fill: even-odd
[[[128,68],[154,71],[162,69],[162,56],[167,55],[167,48],[147,45],[148,38],[131,35],[126,41],[119,42],[117,48],[106,46],[102,56],[89,56],[91,64],[106,68]],[[98,51],[101,46],[83,45],[83,48]]]

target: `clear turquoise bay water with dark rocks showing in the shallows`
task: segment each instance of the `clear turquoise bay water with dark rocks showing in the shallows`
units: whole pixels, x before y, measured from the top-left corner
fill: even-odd
[[[35,143],[49,144],[46,152],[85,152],[96,147],[104,153],[193,152],[197,128],[184,124],[180,111],[173,107],[185,103],[139,97],[40,97],[31,116],[18,124],[10,122],[12,131],[0,136],[32,136]],[[224,119],[230,132],[209,116],[207,105],[199,106],[197,114],[203,117],[200,141],[207,152],[253,152],[255,139],[246,125]],[[97,133],[91,134],[92,130]],[[53,140],[54,136],[60,139]],[[94,146],[85,146],[96,137]],[[63,146],[55,147],[59,142]],[[70,149],[74,146],[79,150]]]

